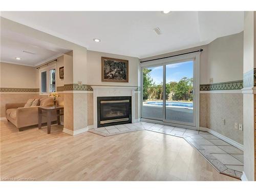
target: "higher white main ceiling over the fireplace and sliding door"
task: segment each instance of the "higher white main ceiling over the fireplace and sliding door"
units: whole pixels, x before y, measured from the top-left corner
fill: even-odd
[[[139,58],[205,45],[243,31],[242,11],[14,11],[1,16],[88,50]],[[153,30],[157,27],[161,35]]]

